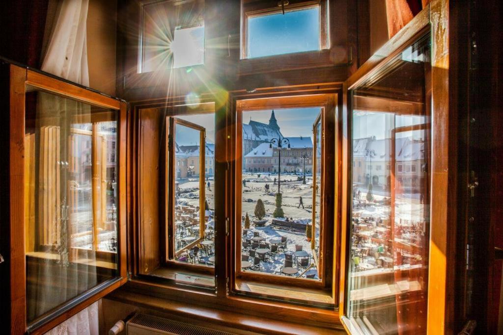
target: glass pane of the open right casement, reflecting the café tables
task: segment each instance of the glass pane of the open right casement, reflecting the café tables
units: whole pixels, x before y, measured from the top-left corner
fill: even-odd
[[[364,333],[426,333],[430,37],[351,91],[348,317]]]

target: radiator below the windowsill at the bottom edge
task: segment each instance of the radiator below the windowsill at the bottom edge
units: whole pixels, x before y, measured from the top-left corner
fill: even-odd
[[[162,317],[136,314],[126,322],[127,335],[234,335],[231,332],[215,330]]]

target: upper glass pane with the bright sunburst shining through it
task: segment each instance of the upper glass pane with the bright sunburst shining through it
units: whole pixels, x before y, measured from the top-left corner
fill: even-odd
[[[204,1],[142,7],[141,72],[204,63]]]

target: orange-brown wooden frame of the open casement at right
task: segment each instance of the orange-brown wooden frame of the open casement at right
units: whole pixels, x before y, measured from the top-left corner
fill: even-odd
[[[345,329],[349,333],[358,334],[360,331],[351,324],[346,316],[349,298],[349,255],[350,255],[350,227],[352,212],[352,155],[351,155],[351,111],[353,102],[352,88],[369,78],[375,71],[386,65],[387,61],[398,55],[416,39],[431,33],[431,125],[432,130],[432,155],[431,155],[431,221],[430,221],[430,255],[428,279],[428,332],[446,332],[452,327],[454,319],[454,264],[456,252],[454,237],[446,232],[456,231],[457,208],[454,205],[455,197],[449,197],[452,192],[451,180],[455,180],[456,167],[451,166],[451,160],[456,153],[450,152],[450,147],[455,146],[455,135],[451,134],[449,121],[455,116],[449,115],[449,8],[448,3],[441,0],[432,1],[419,14],[417,14],[399,34],[393,36],[384,44],[360,69],[344,82],[344,109],[343,109],[343,224],[342,224],[342,258],[340,281],[340,317]],[[397,106],[400,108],[400,106]],[[435,301],[435,303],[431,303]]]

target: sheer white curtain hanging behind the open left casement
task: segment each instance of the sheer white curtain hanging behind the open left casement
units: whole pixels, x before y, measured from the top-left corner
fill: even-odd
[[[86,36],[86,21],[88,16],[89,0],[63,0],[59,5],[59,11],[56,14],[55,23],[52,34],[48,40],[45,56],[42,61],[42,70],[54,74],[58,77],[68,79],[72,82],[79,83],[84,86],[89,86],[89,70],[87,57],[87,36]],[[86,127],[83,124],[91,123],[91,109],[89,105],[80,102],[72,101],[52,94],[39,92],[37,114],[40,115],[41,133],[49,132],[57,129],[61,132],[60,136],[52,137],[54,143],[48,143],[49,147],[60,148],[65,146],[64,141],[72,136],[68,133],[70,129]],[[74,120],[78,120],[75,121]],[[44,124],[42,124],[42,122]],[[59,134],[59,133],[58,133]],[[59,161],[71,162],[72,152],[70,148],[58,150],[56,156],[51,156],[54,162],[49,162],[49,166],[57,165]],[[59,170],[58,170],[59,171]],[[56,171],[56,173],[58,173]],[[40,183],[40,182],[39,182]],[[66,184],[68,187],[66,187]],[[74,226],[79,225],[77,213],[73,213],[72,209],[76,206],[69,199],[68,192],[71,192],[71,177],[66,174],[66,177],[61,174],[61,185],[66,187],[66,192],[62,192],[65,196],[61,198],[47,198],[44,201],[44,194],[39,194],[40,205],[38,207],[39,217],[47,217],[47,213],[52,214],[48,222],[53,227],[55,237],[49,236],[49,245],[52,243],[57,250],[59,267],[54,271],[54,267],[39,266],[38,278],[39,282],[52,282],[53,285],[42,285],[36,288],[36,302],[32,305],[29,311],[32,317],[36,317],[41,313],[54,307],[55,303],[62,303],[73,298],[82,291],[85,291],[97,283],[96,268],[89,267],[88,273],[79,271],[78,264],[72,262],[71,235],[78,229]],[[39,187],[56,187],[57,185],[40,185]],[[68,195],[68,198],[67,198]],[[69,205],[68,219],[61,219],[61,212],[54,211],[43,203],[56,203],[56,208],[61,205]],[[49,215],[50,216],[50,215]],[[39,221],[39,225],[44,222]],[[49,230],[49,232],[51,232]],[[97,239],[98,237],[93,237]],[[46,241],[47,242],[47,241]],[[96,250],[90,250],[87,253],[89,261],[96,260]],[[78,255],[76,257],[79,257]],[[81,256],[80,256],[81,257]],[[54,286],[59,290],[55,291]],[[59,324],[49,334],[98,334],[99,333],[99,302],[96,302],[88,308],[80,311],[78,314],[67,319]]]

